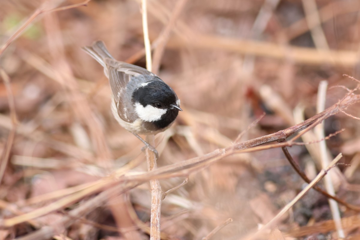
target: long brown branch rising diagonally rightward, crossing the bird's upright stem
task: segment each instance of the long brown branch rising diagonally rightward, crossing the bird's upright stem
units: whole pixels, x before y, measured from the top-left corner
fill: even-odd
[[[229,155],[234,153],[249,153],[254,151],[266,150],[270,148],[279,148],[279,147],[288,147],[293,145],[293,141],[295,141],[301,134],[297,137],[289,141],[284,141],[287,137],[292,136],[293,134],[300,132],[304,129],[313,128],[316,124],[319,124],[324,119],[337,114],[340,112],[340,109],[346,109],[348,106],[355,104],[360,101],[359,95],[354,95],[351,93],[346,94],[344,98],[342,98],[338,103],[332,105],[331,107],[325,109],[323,112],[307,119],[306,121],[296,124],[295,126],[289,127],[285,130],[272,133],[266,136],[258,137],[256,139],[248,140],[239,144],[235,144],[233,146],[229,146],[223,149],[217,149],[211,153],[208,153],[204,156],[193,158],[186,160],[184,162],[178,162],[171,164],[169,166],[160,167],[157,169],[153,169],[152,171],[148,171],[145,173],[139,174],[131,174],[124,175],[122,171],[119,172],[120,176],[117,179],[113,177],[103,178],[99,180],[96,184],[93,184],[91,187],[80,191],[79,193],[68,196],[66,199],[60,199],[55,201],[53,204],[49,205],[49,207],[44,207],[43,209],[35,210],[30,213],[26,213],[22,216],[17,216],[9,219],[3,219],[0,225],[4,227],[14,226],[15,224],[28,221],[34,217],[43,216],[49,212],[55,211],[57,209],[61,209],[63,207],[68,206],[69,204],[84,198],[84,196],[88,194],[92,194],[98,192],[104,187],[111,186],[113,184],[132,184],[132,186],[137,186],[140,183],[155,180],[155,179],[165,179],[176,176],[187,176],[189,173],[199,171],[200,169],[209,166],[210,164],[223,159]],[[303,132],[302,132],[303,133]],[[264,146],[266,143],[271,143],[274,141],[279,141],[277,144],[268,144]],[[159,191],[160,192],[160,191]],[[160,201],[162,199],[162,191],[161,194],[158,194]],[[161,195],[161,196],[160,196]],[[95,207],[95,206],[94,206]],[[87,209],[89,210],[89,209]]]

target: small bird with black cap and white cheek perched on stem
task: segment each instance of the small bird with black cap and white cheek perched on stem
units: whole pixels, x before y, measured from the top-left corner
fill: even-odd
[[[182,111],[174,90],[147,69],[114,59],[103,41],[82,49],[104,68],[111,88],[111,112],[116,121],[158,158],[157,150],[139,134],[156,135],[174,123]]]

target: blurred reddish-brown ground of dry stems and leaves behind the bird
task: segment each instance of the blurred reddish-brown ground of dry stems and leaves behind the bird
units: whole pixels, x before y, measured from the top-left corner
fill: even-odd
[[[77,3],[1,0],[1,45],[36,9]],[[42,13],[1,54],[18,119],[9,146],[15,128],[11,96],[1,81],[1,218],[48,205],[66,197],[55,196],[59,190],[91,184],[119,168],[147,171],[143,144],[111,114],[102,67],[81,50],[102,40],[116,59],[145,67],[140,6],[140,0],[92,0],[87,6]],[[148,22],[157,74],[184,109],[169,130],[156,136],[159,166],[231,146],[240,133],[238,142],[293,126],[316,114],[320,81],[353,88],[357,83],[343,74],[359,78],[358,0],[149,0]],[[156,53],[164,44],[163,53]],[[326,107],[346,93],[343,87],[330,88]],[[360,117],[359,106],[347,113]],[[341,162],[351,164],[340,165],[334,181],[338,196],[353,204],[360,204],[359,124],[342,113],[325,121],[326,135],[346,129],[326,143],[332,157],[342,152]],[[289,149],[310,179],[320,168],[317,146],[311,146]],[[183,180],[161,180],[162,190]],[[202,239],[233,218],[212,239],[243,239],[304,186],[281,149],[224,158],[191,174],[186,185],[166,196],[162,238]],[[49,224],[88,198],[35,221]],[[10,205],[18,212],[10,211]],[[354,215],[341,211],[344,218]],[[149,213],[149,184],[143,184],[91,210],[64,234],[70,239],[148,239]],[[278,227],[286,239],[332,239],[336,233],[330,219],[327,199],[311,190]],[[360,234],[356,226],[359,220],[345,227],[353,239]],[[0,230],[0,238],[36,228],[21,223]]]

